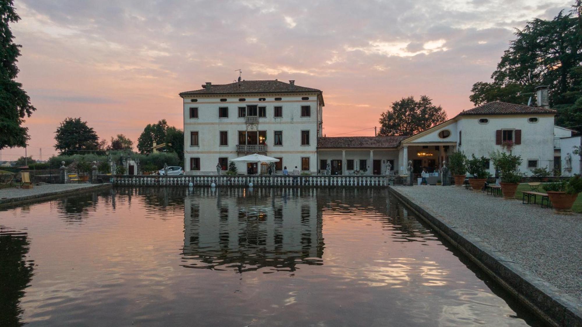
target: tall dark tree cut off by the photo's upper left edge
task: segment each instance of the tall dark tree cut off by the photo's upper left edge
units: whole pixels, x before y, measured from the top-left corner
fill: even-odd
[[[15,81],[19,72],[16,62],[20,47],[13,42],[14,35],[9,23],[16,23],[12,0],[0,0],[0,150],[6,147],[24,147],[30,140],[28,127],[22,126],[24,117],[30,117],[36,110],[30,104],[30,97]]]

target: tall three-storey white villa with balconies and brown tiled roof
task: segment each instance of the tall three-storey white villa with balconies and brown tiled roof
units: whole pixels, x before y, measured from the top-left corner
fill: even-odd
[[[180,93],[184,106],[184,167],[187,175],[215,174],[231,159],[249,154],[278,158],[276,170],[295,166],[317,172],[317,137],[324,99],[317,88],[293,80],[205,83]],[[257,173],[256,163],[237,163],[239,173]]]

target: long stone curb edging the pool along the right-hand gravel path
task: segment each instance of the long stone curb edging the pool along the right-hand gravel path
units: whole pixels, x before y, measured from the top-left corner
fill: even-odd
[[[415,204],[393,187],[388,187],[388,190],[547,323],[582,327],[582,309],[560,296],[553,286],[512,265],[501,255],[492,254],[494,251],[487,246],[460,234],[455,227],[438,219],[438,215]]]

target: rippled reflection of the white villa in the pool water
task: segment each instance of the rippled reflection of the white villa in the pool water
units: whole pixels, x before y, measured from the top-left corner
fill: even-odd
[[[296,201],[290,190],[223,189],[229,197],[200,194],[184,201],[184,259],[188,268],[264,267],[294,271],[297,264],[321,264],[322,219],[313,201]],[[236,197],[232,197],[235,195]]]

